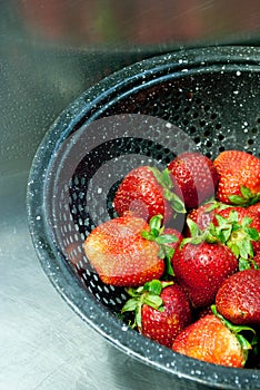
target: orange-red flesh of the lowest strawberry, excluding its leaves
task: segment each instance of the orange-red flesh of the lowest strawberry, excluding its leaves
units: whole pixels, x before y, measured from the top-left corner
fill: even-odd
[[[172,350],[209,363],[243,368],[248,357],[244,345],[251,347],[247,342],[242,347],[232,330],[208,314],[187,326],[173,341]]]

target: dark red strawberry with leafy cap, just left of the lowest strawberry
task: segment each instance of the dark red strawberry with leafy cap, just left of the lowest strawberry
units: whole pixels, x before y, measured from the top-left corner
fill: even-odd
[[[134,311],[139,332],[168,348],[182,329],[191,323],[190,303],[174,282],[153,280],[139,289],[128,289],[131,299],[122,313]]]

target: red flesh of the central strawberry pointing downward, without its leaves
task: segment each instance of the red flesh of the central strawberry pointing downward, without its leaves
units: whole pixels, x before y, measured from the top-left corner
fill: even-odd
[[[172,267],[193,306],[202,308],[213,303],[223,281],[238,270],[238,261],[226,245],[187,242],[176,250]]]

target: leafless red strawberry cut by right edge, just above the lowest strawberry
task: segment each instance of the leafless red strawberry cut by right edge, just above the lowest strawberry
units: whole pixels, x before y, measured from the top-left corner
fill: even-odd
[[[244,270],[228,277],[217,293],[216,306],[232,323],[260,325],[260,271]]]

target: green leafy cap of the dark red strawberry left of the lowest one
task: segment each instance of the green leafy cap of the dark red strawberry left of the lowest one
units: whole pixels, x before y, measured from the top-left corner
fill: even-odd
[[[149,306],[162,312],[163,309],[163,301],[160,296],[162,290],[169,285],[172,285],[173,282],[164,282],[159,281],[157,279],[144,283],[142,286],[139,286],[137,289],[129,287],[126,289],[127,293],[131,296],[121,309],[121,313],[126,312],[134,312],[134,319],[133,322],[131,322],[129,325],[130,328],[134,329],[138,328],[141,330],[142,328],[142,305],[148,304]]]

